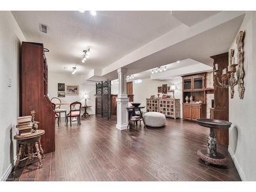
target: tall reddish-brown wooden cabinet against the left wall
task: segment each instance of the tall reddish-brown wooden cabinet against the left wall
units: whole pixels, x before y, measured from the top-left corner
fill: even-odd
[[[35,110],[38,129],[45,130],[41,145],[45,153],[55,151],[55,113],[48,98],[48,67],[44,45],[22,42],[22,116]]]

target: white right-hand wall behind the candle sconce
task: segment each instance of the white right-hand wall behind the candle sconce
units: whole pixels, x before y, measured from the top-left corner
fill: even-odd
[[[245,31],[244,39],[244,98],[240,99],[238,86],[234,87],[234,97],[229,98],[229,153],[242,180],[256,181],[256,13],[246,12],[239,31]],[[239,32],[238,31],[238,32]],[[237,61],[237,45],[234,39],[229,48],[234,49]]]

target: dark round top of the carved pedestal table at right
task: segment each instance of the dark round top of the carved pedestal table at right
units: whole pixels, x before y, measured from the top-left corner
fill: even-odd
[[[229,121],[219,119],[197,119],[197,123],[201,126],[215,129],[228,129],[232,124]]]

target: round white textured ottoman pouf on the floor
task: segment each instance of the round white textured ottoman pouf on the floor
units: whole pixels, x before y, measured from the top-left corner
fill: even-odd
[[[158,112],[147,112],[143,115],[146,126],[160,127],[165,125],[165,115]]]

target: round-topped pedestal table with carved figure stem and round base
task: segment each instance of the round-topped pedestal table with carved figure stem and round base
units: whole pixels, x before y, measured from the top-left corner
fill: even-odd
[[[221,166],[228,165],[228,158],[217,152],[217,139],[215,137],[215,129],[228,129],[232,123],[219,119],[197,119],[197,123],[210,129],[210,136],[207,138],[207,148],[197,151],[197,155],[205,162],[205,164],[215,164]]]

